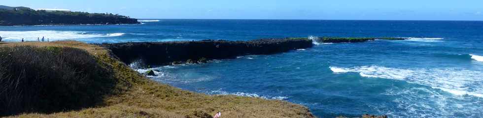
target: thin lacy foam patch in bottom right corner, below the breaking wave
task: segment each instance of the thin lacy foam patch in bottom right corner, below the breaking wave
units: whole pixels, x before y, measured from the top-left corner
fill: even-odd
[[[460,95],[448,96],[424,87],[391,88],[382,94],[395,96],[393,102],[397,104],[396,107],[405,111],[398,112],[391,109],[379,111],[391,118],[453,118],[455,114],[461,113],[466,114],[463,116],[468,118],[478,118],[483,109],[481,100],[464,99]],[[454,94],[464,95],[458,92]],[[384,108],[385,106],[376,104],[374,107]],[[471,117],[472,115],[475,117]]]

